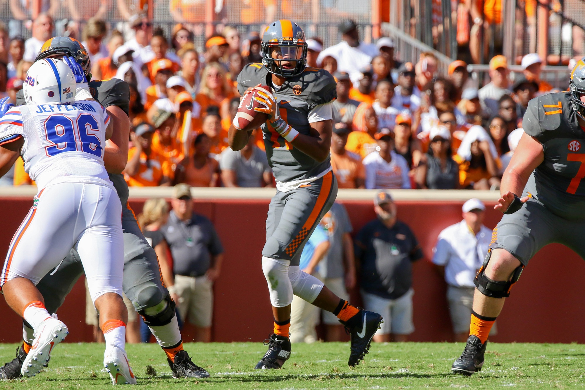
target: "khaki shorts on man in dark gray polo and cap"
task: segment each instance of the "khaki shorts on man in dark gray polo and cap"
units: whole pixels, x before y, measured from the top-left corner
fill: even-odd
[[[207,276],[175,276],[175,288],[179,296],[177,309],[181,320],[200,328],[211,326],[214,312],[214,283]]]

